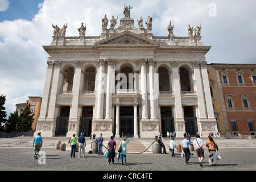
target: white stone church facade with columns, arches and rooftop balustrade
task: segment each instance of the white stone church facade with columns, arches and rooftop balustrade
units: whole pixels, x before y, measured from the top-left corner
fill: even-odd
[[[177,137],[216,132],[205,61],[210,46],[200,34],[154,36],[149,16],[147,28],[136,28],[130,14],[118,28],[112,19],[108,29],[104,19],[100,36],[86,36],[84,27],[77,37],[55,34],[51,46],[43,46],[49,58],[35,134],[121,137],[124,131],[153,138],[168,130]],[[163,118],[169,120],[163,124]]]

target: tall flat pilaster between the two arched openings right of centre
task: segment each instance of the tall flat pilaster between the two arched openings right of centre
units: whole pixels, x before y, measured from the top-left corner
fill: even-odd
[[[178,63],[172,61],[172,75],[174,83],[174,94],[175,94],[175,124],[176,124],[176,134],[177,137],[182,137],[185,132],[185,121],[183,117],[183,107],[181,103],[181,89],[180,89],[180,75],[179,68],[177,67]]]

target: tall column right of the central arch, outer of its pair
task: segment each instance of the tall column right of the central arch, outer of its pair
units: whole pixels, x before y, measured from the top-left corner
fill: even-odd
[[[155,67],[155,60],[150,59],[148,60],[149,68],[149,78],[150,78],[150,120],[157,120],[156,119],[156,105],[155,100],[157,97],[156,88],[155,88],[155,81],[154,81],[154,67]]]

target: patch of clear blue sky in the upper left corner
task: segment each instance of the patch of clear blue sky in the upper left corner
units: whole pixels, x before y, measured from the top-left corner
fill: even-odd
[[[0,22],[15,19],[31,20],[38,14],[39,7],[42,6],[40,3],[43,3],[43,0],[9,0],[8,9],[0,11]]]

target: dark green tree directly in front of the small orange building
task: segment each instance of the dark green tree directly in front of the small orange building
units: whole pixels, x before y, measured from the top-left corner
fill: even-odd
[[[20,114],[17,123],[17,132],[31,130],[32,123],[35,121],[35,119],[33,118],[35,114],[32,114],[30,106],[31,104],[27,104],[26,108]]]

